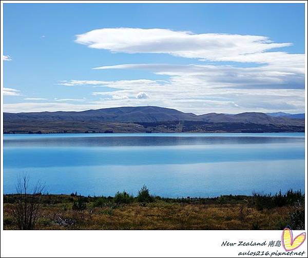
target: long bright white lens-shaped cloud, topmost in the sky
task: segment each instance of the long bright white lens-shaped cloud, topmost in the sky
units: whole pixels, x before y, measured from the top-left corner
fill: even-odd
[[[194,34],[169,29],[103,28],[76,36],[75,42],[113,53],[163,53],[208,61],[279,64],[304,62],[304,55],[266,52],[292,43],[275,43],[264,36],[219,33]]]

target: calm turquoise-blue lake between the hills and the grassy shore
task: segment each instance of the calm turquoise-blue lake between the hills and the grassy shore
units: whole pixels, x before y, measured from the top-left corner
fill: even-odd
[[[50,194],[214,197],[301,190],[304,133],[5,134],[4,193],[18,176]]]

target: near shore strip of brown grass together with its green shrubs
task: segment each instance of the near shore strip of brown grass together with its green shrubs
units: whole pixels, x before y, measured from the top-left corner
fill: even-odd
[[[4,229],[18,229],[14,207],[23,195],[4,195]],[[304,229],[304,195],[153,197],[145,188],[138,197],[28,195],[40,205],[36,230],[281,230]]]

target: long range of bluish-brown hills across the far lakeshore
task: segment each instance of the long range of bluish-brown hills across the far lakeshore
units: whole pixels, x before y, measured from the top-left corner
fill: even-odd
[[[196,115],[145,106],[81,112],[4,113],[4,131],[29,132],[271,132],[304,131],[304,119],[246,112]]]

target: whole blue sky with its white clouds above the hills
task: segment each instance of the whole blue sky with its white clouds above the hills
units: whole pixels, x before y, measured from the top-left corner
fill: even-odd
[[[304,112],[304,4],[4,4],[4,111]]]

